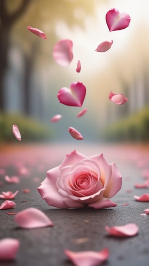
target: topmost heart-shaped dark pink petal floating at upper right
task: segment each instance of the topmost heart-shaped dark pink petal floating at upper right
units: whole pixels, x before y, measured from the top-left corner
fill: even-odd
[[[106,13],[106,23],[110,32],[127,28],[130,21],[131,18],[128,13],[120,14],[116,8],[112,8]]]

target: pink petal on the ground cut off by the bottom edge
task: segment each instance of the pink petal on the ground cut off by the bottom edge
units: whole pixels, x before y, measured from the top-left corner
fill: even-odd
[[[98,266],[105,262],[109,257],[108,249],[103,249],[100,252],[73,252],[66,249],[64,252],[75,266]]]

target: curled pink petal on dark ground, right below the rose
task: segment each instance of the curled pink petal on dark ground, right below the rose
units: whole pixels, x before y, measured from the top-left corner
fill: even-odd
[[[135,223],[129,223],[121,226],[105,226],[105,230],[112,236],[116,237],[132,237],[135,236],[139,228]]]

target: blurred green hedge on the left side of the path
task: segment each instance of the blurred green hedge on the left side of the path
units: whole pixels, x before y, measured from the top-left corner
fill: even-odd
[[[45,124],[18,114],[0,114],[0,142],[16,141],[12,133],[12,125],[20,130],[22,141],[45,141],[52,137],[52,130]]]

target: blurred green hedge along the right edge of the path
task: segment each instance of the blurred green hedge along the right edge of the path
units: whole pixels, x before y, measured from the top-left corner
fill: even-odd
[[[149,141],[149,107],[109,125],[104,138],[110,141]]]

